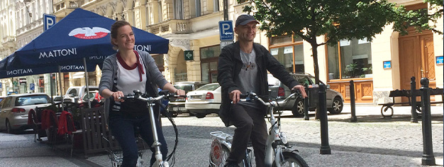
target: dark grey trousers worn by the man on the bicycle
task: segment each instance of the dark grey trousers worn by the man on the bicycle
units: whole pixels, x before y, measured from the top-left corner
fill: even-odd
[[[264,119],[264,110],[247,107],[241,104],[232,104],[231,121],[234,130],[233,145],[227,162],[240,163],[245,158],[245,150],[251,139],[255,150],[256,166],[265,166],[265,143],[267,142],[267,124]]]

